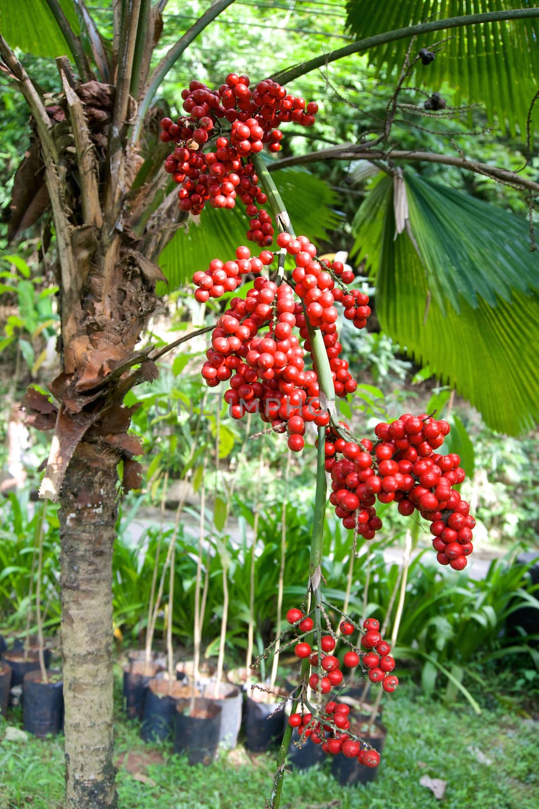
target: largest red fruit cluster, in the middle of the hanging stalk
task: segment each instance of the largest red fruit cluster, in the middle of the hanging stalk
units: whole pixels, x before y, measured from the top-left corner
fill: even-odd
[[[296,281],[293,290],[286,282],[277,286],[265,277],[257,277],[247,297],[232,299],[214,328],[202,376],[212,388],[230,379],[231,389],[225,393],[225,400],[231,415],[241,418],[245,413],[260,413],[262,421],[270,423],[274,430],[286,430],[288,446],[300,451],[306,422],[313,421],[322,427],[329,424],[329,413],[320,402],[316,371],[305,367],[306,354],[311,352],[307,318],[310,325],[324,334],[335,394],[346,396],[355,391],[357,383],[350,376],[348,362],[339,357],[342,345],[338,341],[337,310],[333,303],[348,294],[347,290],[345,294],[340,287],[335,288],[335,278],[343,274],[342,265],[338,262],[323,265],[317,261],[316,247],[307,236],[300,235],[297,239],[289,234],[288,239],[281,236],[278,237],[281,247],[295,256],[294,273],[301,270],[308,289],[303,285],[298,299],[295,293],[301,286],[299,282]],[[236,260],[214,259],[207,272],[193,275],[197,284],[195,298],[204,303],[234,291],[245,273],[259,273],[273,261],[274,254],[267,250],[251,257],[248,248],[237,248]],[[350,297],[359,300],[357,295]],[[368,301],[367,295],[363,299]],[[320,310],[313,311],[315,304]],[[370,312],[365,303],[360,306]],[[362,315],[368,312],[363,311]],[[356,323],[359,328],[364,324],[364,320]],[[261,334],[261,329],[266,328]]]

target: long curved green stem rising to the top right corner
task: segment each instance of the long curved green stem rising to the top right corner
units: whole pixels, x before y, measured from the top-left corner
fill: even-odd
[[[386,31],[375,36],[369,36],[366,40],[359,40],[345,45],[344,48],[338,48],[331,53],[325,53],[321,56],[314,57],[308,61],[302,61],[299,65],[290,67],[287,70],[279,70],[271,78],[279,83],[291,82],[299,76],[310,73],[311,70],[316,70],[318,67],[323,67],[329,64],[330,61],[336,61],[346,56],[351,56],[353,53],[362,53],[370,48],[375,48],[377,45],[385,44],[386,42],[394,42],[395,40],[404,40],[418,34],[427,34],[434,31],[442,31],[447,28],[460,28],[465,25],[474,25],[476,23],[496,23],[500,20],[507,19],[533,19],[539,17],[539,8],[516,8],[505,11],[490,11],[487,14],[469,14],[461,17],[449,17],[448,19],[433,19],[428,23],[418,23],[418,25],[409,25],[407,28],[396,28],[395,31]]]

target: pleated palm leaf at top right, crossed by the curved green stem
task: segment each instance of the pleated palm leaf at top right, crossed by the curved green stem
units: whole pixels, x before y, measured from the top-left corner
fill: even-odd
[[[522,0],[348,0],[347,26],[361,39],[427,19],[448,19],[488,11],[505,11],[526,6]],[[469,25],[452,29],[451,39],[428,66],[417,63],[413,83],[423,82],[439,90],[447,81],[460,100],[482,102],[490,123],[497,114],[510,132],[518,124],[524,131],[528,108],[539,85],[539,19],[516,19],[499,23]],[[418,36],[412,55],[426,48],[438,35]],[[371,63],[384,72],[401,70],[410,40],[380,45],[369,53]]]

